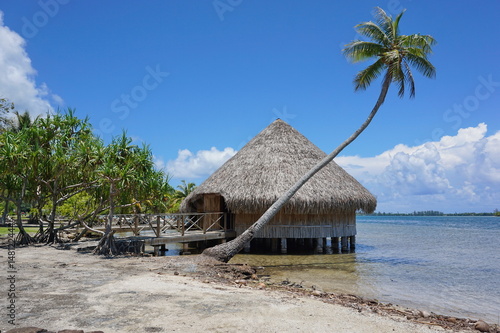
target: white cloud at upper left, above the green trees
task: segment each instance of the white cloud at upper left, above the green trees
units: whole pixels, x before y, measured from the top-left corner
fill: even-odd
[[[0,11],[0,97],[14,102],[19,111],[32,115],[52,112],[51,101],[62,104],[61,97],[52,94],[45,83],[37,86],[36,70],[26,53],[25,40],[3,22]]]

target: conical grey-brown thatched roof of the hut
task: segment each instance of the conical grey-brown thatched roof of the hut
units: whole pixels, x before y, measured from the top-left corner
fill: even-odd
[[[203,194],[218,193],[233,213],[260,213],[326,154],[283,120],[276,120],[217,169],[182,203],[196,211]],[[314,175],[284,207],[286,213],[375,210],[377,201],[335,162]]]

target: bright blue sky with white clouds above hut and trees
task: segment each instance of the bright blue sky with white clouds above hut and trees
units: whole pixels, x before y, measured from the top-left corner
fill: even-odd
[[[326,152],[364,121],[380,83],[354,92],[368,64],[341,48],[375,6],[437,39],[437,78],[390,91],[337,163],[380,211],[500,209],[497,0],[2,0],[0,96],[76,108],[105,140],[126,129],[199,184],[277,117]]]

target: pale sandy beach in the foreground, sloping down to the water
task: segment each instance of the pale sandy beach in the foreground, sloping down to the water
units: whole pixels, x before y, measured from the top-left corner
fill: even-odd
[[[5,275],[5,248],[1,257]],[[17,248],[15,268],[16,325],[8,323],[4,297],[2,332],[28,326],[105,333],[430,333],[459,327],[444,329],[438,317],[419,319],[422,313],[354,296],[268,286],[249,267],[200,256],[103,258],[39,246]]]

